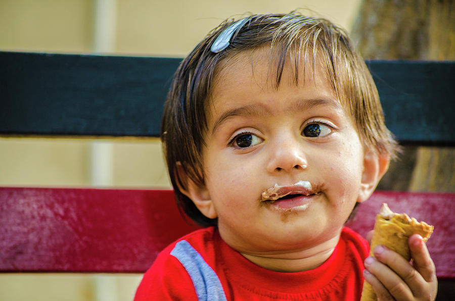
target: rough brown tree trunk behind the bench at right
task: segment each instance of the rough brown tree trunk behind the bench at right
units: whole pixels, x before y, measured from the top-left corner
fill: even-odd
[[[452,0],[364,0],[351,32],[365,59],[455,60]],[[404,145],[378,189],[455,192],[454,171],[455,147]]]

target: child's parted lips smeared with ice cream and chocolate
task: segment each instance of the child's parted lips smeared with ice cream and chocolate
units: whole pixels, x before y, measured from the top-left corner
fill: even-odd
[[[312,194],[314,191],[308,181],[298,181],[286,186],[275,184],[274,187],[262,192],[261,201],[271,201],[279,209],[305,210],[309,206],[309,198]]]

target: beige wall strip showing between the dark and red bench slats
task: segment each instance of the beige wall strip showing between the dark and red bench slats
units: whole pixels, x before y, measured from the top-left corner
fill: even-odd
[[[0,138],[0,185],[91,186],[90,139]],[[111,180],[102,186],[170,187],[158,139],[111,144]]]

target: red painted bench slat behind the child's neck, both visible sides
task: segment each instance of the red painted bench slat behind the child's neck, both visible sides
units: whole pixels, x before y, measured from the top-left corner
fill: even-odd
[[[365,235],[382,203],[435,225],[438,277],[455,277],[455,194],[375,192],[348,226]],[[0,271],[144,272],[196,229],[171,190],[0,187]]]

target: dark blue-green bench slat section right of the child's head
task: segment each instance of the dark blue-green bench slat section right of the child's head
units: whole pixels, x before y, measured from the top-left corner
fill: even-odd
[[[455,144],[455,62],[367,61],[400,141]]]

